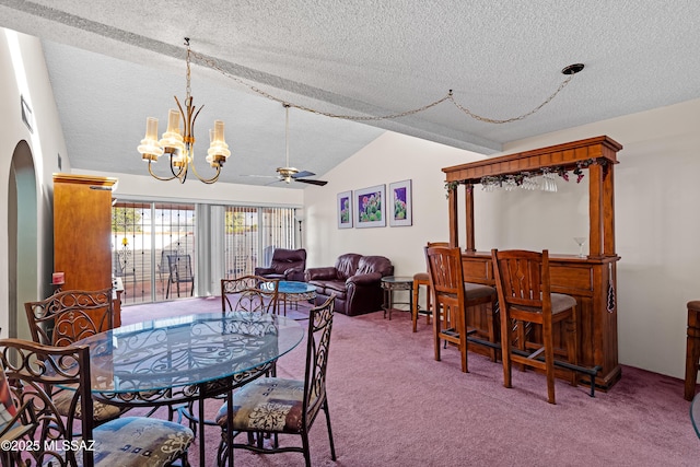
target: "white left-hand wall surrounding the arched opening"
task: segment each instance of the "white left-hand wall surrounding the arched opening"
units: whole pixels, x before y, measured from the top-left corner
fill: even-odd
[[[21,50],[12,54],[11,50]],[[28,102],[34,116],[34,131],[30,132],[22,121],[20,96]],[[58,112],[54,101],[52,90],[48,80],[48,72],[36,37],[0,28],[0,327],[2,337],[8,336],[10,311],[10,295],[15,287],[20,291],[16,296],[20,307],[26,300],[35,300],[49,290],[52,256],[47,255],[52,249],[50,217],[51,190],[46,185],[50,174],[58,171],[57,155],[60,153],[66,162],[66,144],[61,132]],[[32,151],[36,171],[37,200],[37,235],[36,250],[40,252],[34,276],[31,296],[22,296],[26,284],[19,287],[11,282],[8,262],[9,232],[16,230],[16,225],[8,224],[9,197],[12,157],[20,141],[26,141]],[[20,201],[21,202],[21,201]],[[22,308],[23,310],[23,308]],[[19,312],[24,313],[22,310]],[[18,311],[13,311],[18,312]],[[23,316],[23,315],[21,315]]]

